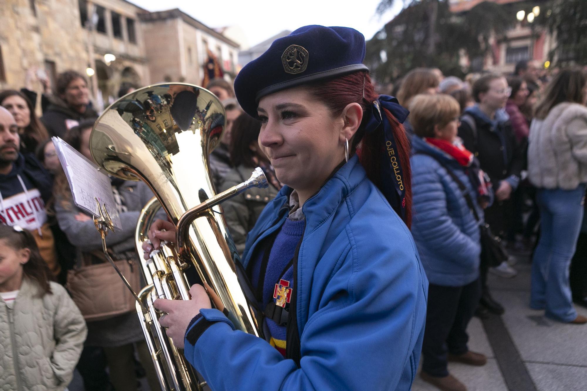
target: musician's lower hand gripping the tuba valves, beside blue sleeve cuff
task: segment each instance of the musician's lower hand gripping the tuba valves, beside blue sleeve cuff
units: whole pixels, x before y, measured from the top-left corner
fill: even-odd
[[[167,336],[173,339],[173,344],[180,349],[184,347],[184,336],[191,319],[200,313],[200,309],[212,308],[204,286],[192,285],[190,295],[190,300],[157,299],[153,302],[155,308],[166,312],[159,318],[159,323],[167,328]]]

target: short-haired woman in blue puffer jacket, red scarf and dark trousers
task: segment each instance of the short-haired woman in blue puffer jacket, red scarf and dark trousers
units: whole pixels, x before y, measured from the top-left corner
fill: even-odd
[[[490,190],[473,154],[459,142],[459,113],[448,95],[419,95],[410,106],[412,234],[430,282],[420,376],[443,390],[465,390],[448,373],[447,359],[471,365],[487,361],[467,348],[467,324],[481,295],[481,244],[479,222],[463,190],[473,195],[481,219],[480,204],[490,201]]]

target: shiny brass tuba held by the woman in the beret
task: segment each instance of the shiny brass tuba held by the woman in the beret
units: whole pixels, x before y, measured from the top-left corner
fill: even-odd
[[[208,90],[184,83],[157,84],[123,96],[96,121],[90,150],[108,174],[142,180],[153,198],[141,211],[136,247],[147,286],[136,294],[137,314],[164,390],[198,390],[205,384],[160,326],[157,298],[190,299],[195,282],[236,328],[262,336],[259,313],[228,233],[221,201],[246,188],[266,187],[257,168],[248,181],[215,194],[208,155],[220,141],[224,107]],[[143,259],[141,245],[161,206],[176,224],[173,247]],[[194,272],[195,270],[195,272]],[[199,279],[198,279],[199,278]]]

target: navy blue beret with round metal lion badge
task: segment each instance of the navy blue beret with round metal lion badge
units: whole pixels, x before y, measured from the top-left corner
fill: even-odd
[[[303,26],[276,39],[259,58],[252,60],[234,80],[238,103],[257,116],[262,97],[332,76],[358,70],[363,65],[365,37],[348,27]]]

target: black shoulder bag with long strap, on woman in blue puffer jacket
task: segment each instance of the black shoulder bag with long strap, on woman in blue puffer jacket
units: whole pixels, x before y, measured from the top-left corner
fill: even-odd
[[[473,203],[473,199],[467,190],[467,187],[463,184],[463,182],[453,173],[444,164],[442,161],[436,159],[436,156],[433,156],[430,153],[425,152],[417,152],[417,154],[428,155],[432,157],[434,160],[438,162],[444,169],[447,171],[448,175],[453,179],[453,181],[457,184],[461,193],[463,193],[463,197],[467,202],[468,208],[473,213],[473,217],[477,220],[479,224],[479,231],[480,231],[480,242],[481,242],[481,264],[487,265],[487,267],[496,267],[501,264],[503,261],[507,261],[509,258],[507,251],[505,251],[504,246],[501,243],[501,238],[494,235],[491,232],[491,227],[489,224],[481,221],[481,217],[477,213],[477,209],[475,208],[475,204]]]

